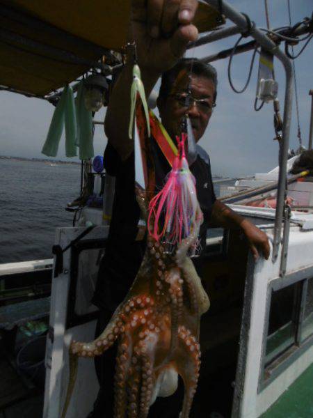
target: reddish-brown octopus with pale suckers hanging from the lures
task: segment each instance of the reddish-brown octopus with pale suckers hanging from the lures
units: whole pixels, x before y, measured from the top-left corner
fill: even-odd
[[[147,222],[151,192],[136,185],[136,199]],[[188,418],[200,371],[200,316],[209,309],[188,250],[193,231],[169,254],[147,234],[141,268],[125,300],[101,335],[92,342],[70,344],[70,380],[62,417],[74,387],[78,357],[102,355],[118,344],[115,363],[114,418],[145,418],[157,396],[170,396],[184,382],[180,418]]]

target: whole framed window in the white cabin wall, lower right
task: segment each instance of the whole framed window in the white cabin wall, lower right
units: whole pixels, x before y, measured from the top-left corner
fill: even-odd
[[[313,266],[269,284],[259,391],[313,344]]]

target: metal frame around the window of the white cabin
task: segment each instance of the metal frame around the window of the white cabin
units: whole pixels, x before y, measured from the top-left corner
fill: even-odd
[[[259,386],[257,393],[259,394],[262,390],[267,387],[275,378],[286,370],[293,362],[303,355],[305,350],[310,348],[313,344],[313,335],[305,339],[305,341],[301,341],[300,338],[300,331],[301,325],[303,323],[303,315],[304,315],[304,305],[305,305],[305,297],[306,297],[306,289],[307,289],[307,280],[313,277],[313,266],[309,268],[304,268],[303,270],[299,270],[297,272],[287,274],[284,278],[278,277],[277,279],[272,280],[268,284],[268,291],[266,297],[266,318],[264,322],[264,329],[263,329],[263,343],[262,343],[262,357],[261,357],[261,367],[259,371]],[[269,378],[264,378],[264,370],[265,370],[265,353],[266,353],[266,339],[268,334],[268,323],[269,323],[269,313],[271,309],[271,296],[272,291],[279,291],[282,288],[286,288],[291,284],[300,284],[302,282],[301,290],[300,290],[300,303],[297,303],[296,309],[298,309],[298,316],[296,318],[296,333],[295,333],[295,343],[287,348],[276,360],[273,360],[273,366],[271,367],[271,376]]]

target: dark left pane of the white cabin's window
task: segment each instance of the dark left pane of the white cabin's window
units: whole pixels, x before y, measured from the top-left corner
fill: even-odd
[[[273,291],[268,318],[265,366],[296,342],[298,283]]]

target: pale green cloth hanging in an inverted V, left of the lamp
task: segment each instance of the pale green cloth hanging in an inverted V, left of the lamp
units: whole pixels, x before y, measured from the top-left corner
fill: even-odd
[[[67,157],[77,155],[77,118],[74,107],[74,95],[71,86],[65,86],[49,127],[47,139],[42,147],[42,154],[56,157],[58,146],[65,124],[65,154]]]

